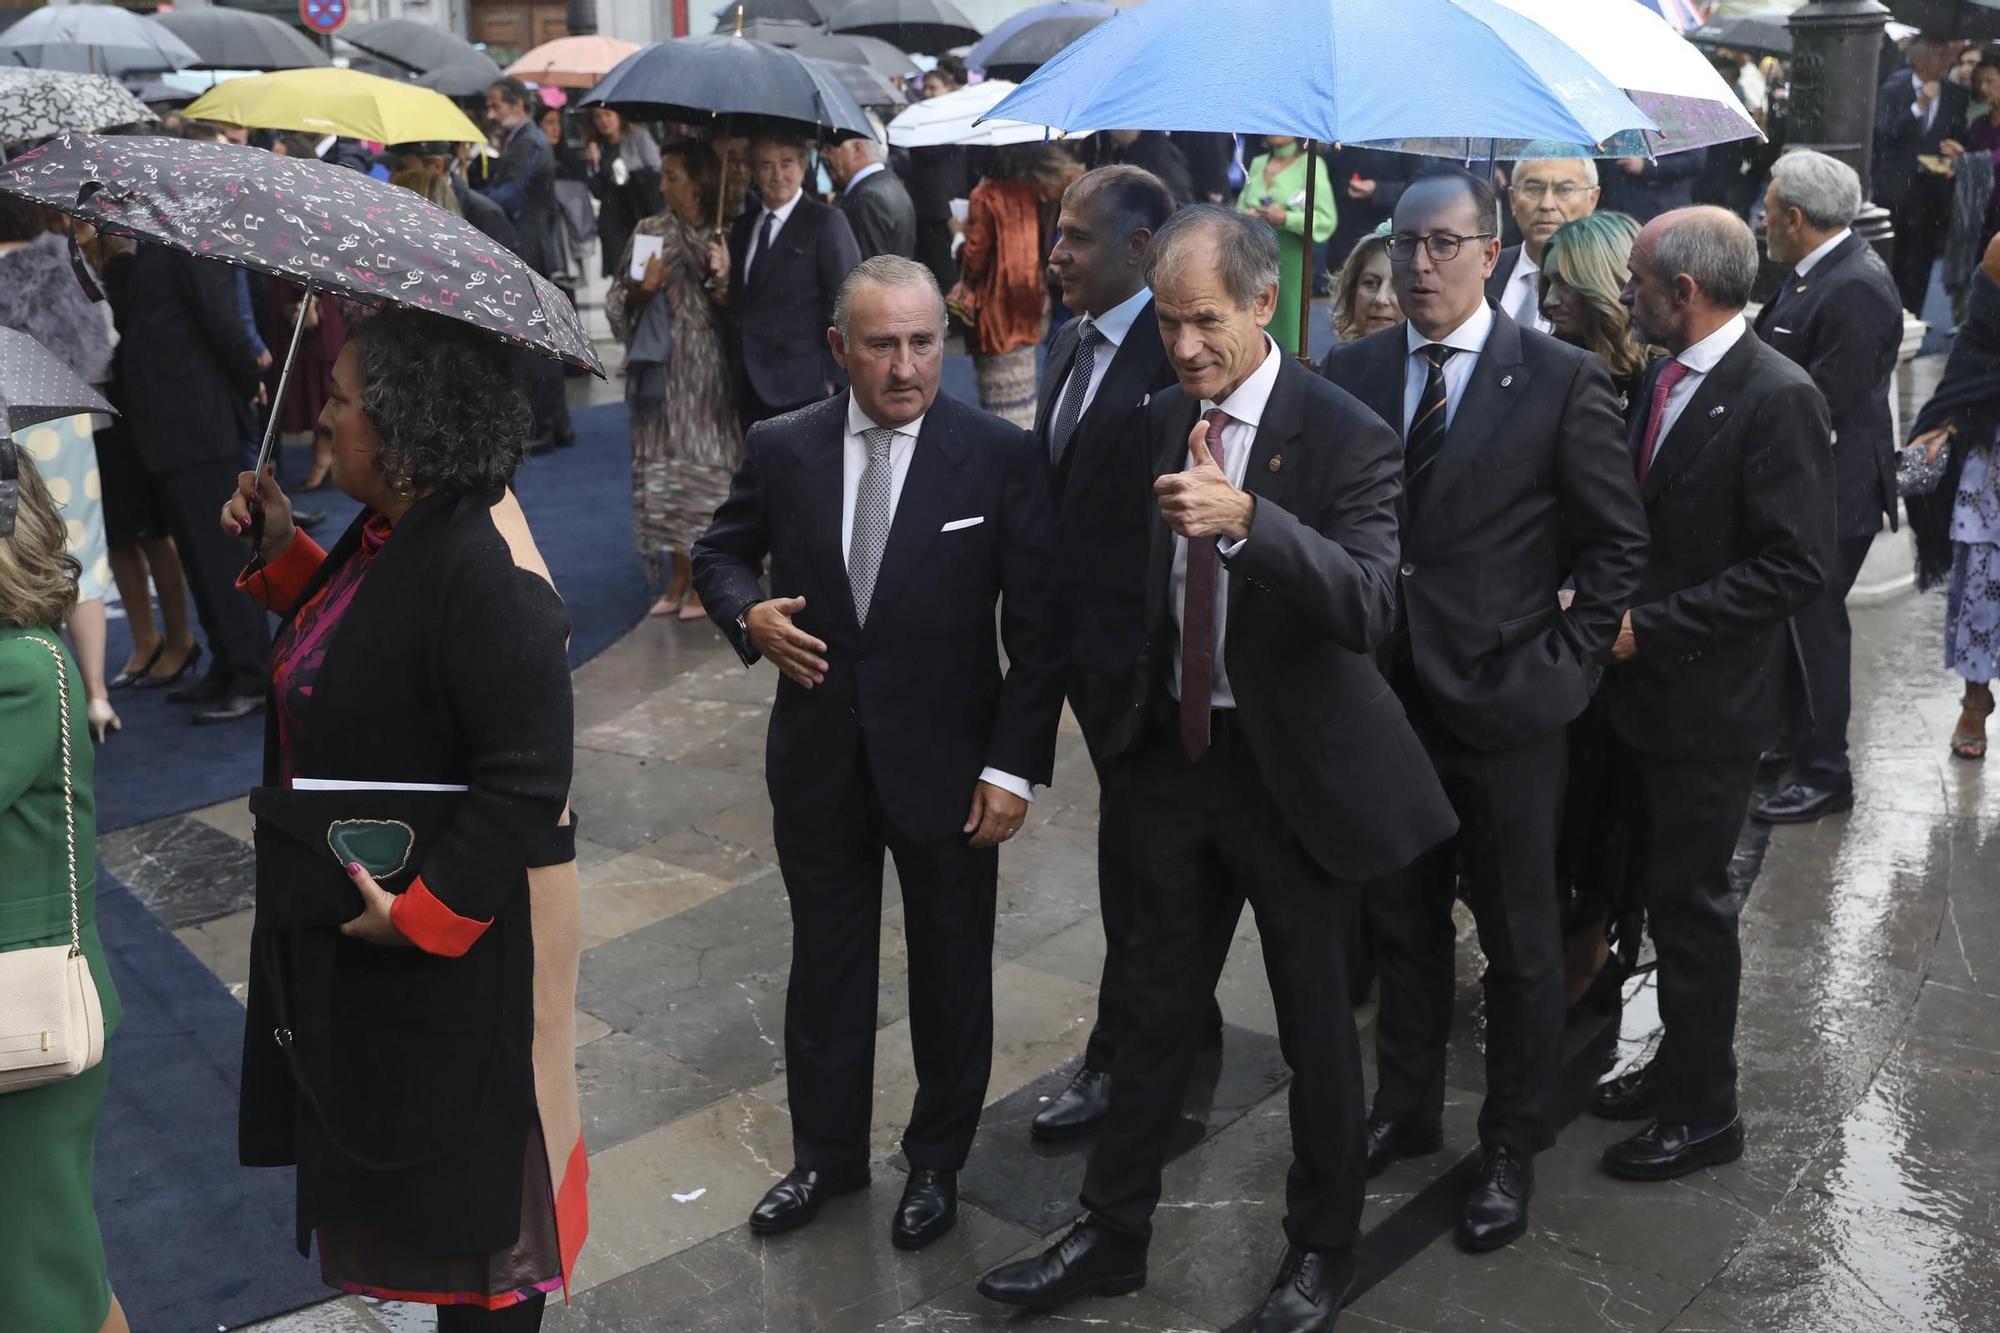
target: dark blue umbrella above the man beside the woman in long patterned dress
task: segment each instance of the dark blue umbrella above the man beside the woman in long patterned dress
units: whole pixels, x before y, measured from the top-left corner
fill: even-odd
[[[868,112],[824,66],[738,36],[686,36],[628,56],[580,104],[660,120],[782,120],[828,138],[874,138]]]

